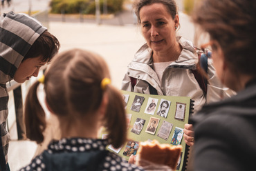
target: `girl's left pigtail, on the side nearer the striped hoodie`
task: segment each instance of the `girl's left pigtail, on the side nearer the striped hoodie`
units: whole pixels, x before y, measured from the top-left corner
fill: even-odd
[[[33,83],[28,90],[25,102],[25,125],[26,137],[37,143],[44,141],[44,130],[46,128],[45,112],[37,98],[37,87],[39,81]]]

